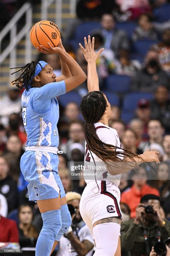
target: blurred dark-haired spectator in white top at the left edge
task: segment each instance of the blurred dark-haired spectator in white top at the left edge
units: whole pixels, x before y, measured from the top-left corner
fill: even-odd
[[[20,90],[17,87],[10,88],[8,93],[0,99],[0,122],[7,127],[9,115],[19,113],[21,110]]]

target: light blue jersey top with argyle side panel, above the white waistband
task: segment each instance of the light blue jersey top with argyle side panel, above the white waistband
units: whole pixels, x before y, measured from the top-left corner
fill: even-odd
[[[23,92],[23,123],[27,133],[27,146],[58,147],[59,106],[55,97],[65,93],[64,81]]]

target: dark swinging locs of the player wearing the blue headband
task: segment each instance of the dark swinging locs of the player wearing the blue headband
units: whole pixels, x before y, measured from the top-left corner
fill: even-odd
[[[28,91],[30,86],[33,85],[33,78],[34,78],[37,64],[39,64],[42,68],[42,65],[38,61],[32,61],[31,63],[28,63],[27,65],[25,65],[23,67],[11,68],[11,69],[19,69],[18,71],[15,71],[11,75],[21,71],[20,76],[18,78],[16,78],[14,81],[12,81],[12,84],[15,84],[16,87],[18,87],[19,89],[25,88]],[[19,85],[20,83],[22,83],[22,86]]]

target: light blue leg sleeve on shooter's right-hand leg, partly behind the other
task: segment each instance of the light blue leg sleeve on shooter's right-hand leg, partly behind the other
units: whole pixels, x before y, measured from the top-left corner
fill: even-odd
[[[60,241],[60,238],[63,234],[66,233],[67,229],[71,225],[71,215],[69,212],[69,208],[67,204],[61,205],[61,221],[62,221],[62,227],[58,234],[56,235],[55,241]]]

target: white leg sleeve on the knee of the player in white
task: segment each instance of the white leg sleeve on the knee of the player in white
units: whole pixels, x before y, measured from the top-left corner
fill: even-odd
[[[113,256],[117,250],[121,226],[108,222],[98,224],[93,228],[93,238],[96,246],[94,256]]]

